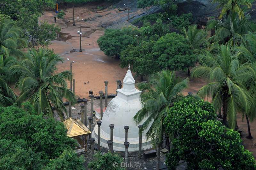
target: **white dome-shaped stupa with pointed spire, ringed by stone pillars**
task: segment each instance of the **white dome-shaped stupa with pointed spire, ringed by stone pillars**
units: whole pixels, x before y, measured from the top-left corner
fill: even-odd
[[[139,128],[133,121],[133,116],[142,108],[140,103],[141,91],[135,88],[135,80],[129,69],[123,80],[123,88],[117,90],[117,96],[112,99],[103,115],[100,126],[100,145],[108,148],[107,141],[110,140],[109,124],[114,124],[113,150],[124,151],[124,126],[129,126],[128,142],[129,151],[139,150]],[[142,150],[152,148],[151,142],[146,140],[142,134]],[[96,124],[92,132],[92,137],[98,143],[98,125]]]

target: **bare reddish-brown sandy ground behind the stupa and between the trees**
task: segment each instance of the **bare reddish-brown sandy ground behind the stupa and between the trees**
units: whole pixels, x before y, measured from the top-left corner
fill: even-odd
[[[115,58],[104,55],[97,44],[98,38],[104,34],[104,29],[101,25],[106,23],[113,23],[120,18],[124,18],[127,15],[127,11],[118,12],[117,9],[110,6],[104,11],[96,12],[96,5],[86,5],[84,7],[75,8],[76,26],[72,25],[72,8],[66,9],[66,16],[62,20],[62,25],[57,19],[57,23],[61,26],[60,38],[63,39],[66,36],[67,41],[52,41],[49,48],[53,49],[55,53],[60,54],[65,58],[64,63],[58,65],[58,71],[69,70],[70,61],[75,61],[72,64],[72,72],[74,74],[75,93],[80,98],[87,97],[89,90],[92,89],[95,95],[98,95],[99,91],[104,91],[104,81],[108,80],[108,93],[116,93],[116,80],[123,80],[127,68],[121,69],[119,61]],[[140,13],[143,11],[137,11]],[[118,14],[118,15],[117,15]],[[45,11],[41,20],[47,20],[49,23],[54,23],[54,11]],[[132,15],[132,14],[131,14]],[[79,48],[79,36],[77,31],[79,30],[79,21],[77,17],[84,19],[90,18],[88,21],[81,22],[82,34],[82,48],[83,52],[71,52],[72,49]],[[68,62],[66,59],[69,58]],[[185,73],[179,72],[180,76],[187,77]],[[138,78],[135,78],[138,81]],[[88,83],[89,82],[89,83]],[[84,84],[86,83],[86,84]],[[206,82],[200,79],[191,79],[189,88],[183,93],[188,92],[196,93]],[[68,82],[69,86],[69,82]],[[210,101],[210,100],[209,100]],[[246,120],[242,122],[241,115],[237,116],[238,126],[243,130],[242,139],[246,149],[253,152],[256,157],[255,138],[256,138],[256,124],[251,123],[251,132],[254,139],[246,139],[248,134]]]

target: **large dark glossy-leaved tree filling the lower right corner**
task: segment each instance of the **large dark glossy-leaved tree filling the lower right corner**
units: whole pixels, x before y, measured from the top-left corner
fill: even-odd
[[[169,133],[174,133],[166,165],[176,169],[185,160],[188,169],[255,169],[253,155],[244,149],[240,134],[215,120],[209,102],[191,98],[174,103],[164,120]]]

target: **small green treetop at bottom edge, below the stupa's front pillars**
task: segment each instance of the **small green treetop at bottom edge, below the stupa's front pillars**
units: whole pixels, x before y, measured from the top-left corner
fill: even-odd
[[[124,168],[121,167],[123,159],[117,153],[108,152],[101,154],[97,152],[93,157],[94,159],[88,164],[88,167],[92,168],[92,170],[124,170]],[[117,166],[115,166],[114,163]]]

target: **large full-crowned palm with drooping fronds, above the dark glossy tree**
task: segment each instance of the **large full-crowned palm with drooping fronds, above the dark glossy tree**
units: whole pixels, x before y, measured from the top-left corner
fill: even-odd
[[[192,77],[210,81],[204,85],[198,95],[212,97],[215,110],[223,110],[223,123],[235,128],[236,114],[252,107],[252,95],[246,89],[255,79],[254,64],[240,63],[242,52],[230,45],[216,46],[217,49],[205,55],[199,55],[200,65],[192,70]]]

